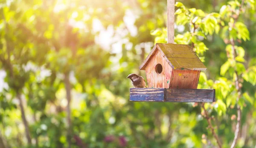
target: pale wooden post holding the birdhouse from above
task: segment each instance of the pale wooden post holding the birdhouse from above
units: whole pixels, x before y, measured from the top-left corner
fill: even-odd
[[[175,0],[167,0],[167,43],[174,44]]]

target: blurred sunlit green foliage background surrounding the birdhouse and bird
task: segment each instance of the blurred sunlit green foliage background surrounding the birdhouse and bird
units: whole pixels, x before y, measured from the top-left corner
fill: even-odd
[[[217,101],[204,107],[224,148],[237,106],[236,147],[256,145],[255,5],[175,4],[175,42],[192,46],[208,68],[198,89],[216,89]],[[2,0],[0,147],[216,147],[197,103],[129,102],[127,75],[145,77],[137,67],[166,40],[166,0]]]

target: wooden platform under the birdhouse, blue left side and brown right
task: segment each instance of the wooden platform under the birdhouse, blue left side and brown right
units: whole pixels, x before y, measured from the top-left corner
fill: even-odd
[[[215,89],[130,88],[130,101],[215,102]]]

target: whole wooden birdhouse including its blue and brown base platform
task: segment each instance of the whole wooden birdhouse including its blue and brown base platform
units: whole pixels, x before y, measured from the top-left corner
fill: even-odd
[[[215,89],[197,89],[207,68],[189,45],[157,43],[139,68],[148,88],[130,88],[130,101],[215,102]]]

